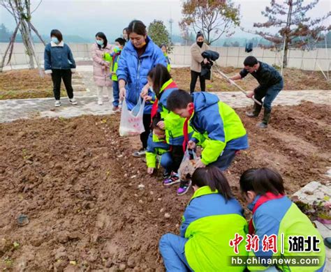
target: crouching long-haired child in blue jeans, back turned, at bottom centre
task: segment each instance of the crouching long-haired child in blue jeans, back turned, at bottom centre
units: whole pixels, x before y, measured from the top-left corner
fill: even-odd
[[[244,271],[245,266],[231,266],[235,255],[229,241],[235,234],[245,236],[247,221],[243,209],[233,197],[221,170],[208,166],[192,175],[193,197],[186,206],[180,236],[165,234],[159,242],[166,271]],[[247,256],[244,243],[238,254]]]

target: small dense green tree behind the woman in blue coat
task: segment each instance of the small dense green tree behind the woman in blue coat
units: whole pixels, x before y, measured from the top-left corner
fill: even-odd
[[[161,20],[154,20],[149,24],[148,35],[152,38],[156,45],[161,46],[163,43],[167,45],[168,52],[172,51],[172,43],[170,41],[170,35]]]

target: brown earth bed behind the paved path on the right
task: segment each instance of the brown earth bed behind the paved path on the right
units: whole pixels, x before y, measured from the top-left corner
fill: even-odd
[[[220,69],[228,77],[240,72],[240,68],[221,67]],[[184,90],[190,89],[190,68],[174,68],[170,73],[180,88]],[[212,82],[206,81],[207,91],[240,91],[216,73],[213,73],[212,80]],[[258,86],[258,82],[251,75],[247,75],[244,80],[237,80],[236,83],[245,91],[253,91]],[[199,80],[196,84],[196,90],[200,91]],[[319,71],[286,68],[284,69],[284,90],[331,90],[331,82],[327,82]]]

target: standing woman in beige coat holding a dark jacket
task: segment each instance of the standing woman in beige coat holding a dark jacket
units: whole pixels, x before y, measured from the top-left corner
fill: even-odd
[[[201,53],[209,50],[209,46],[205,43],[205,38],[203,33],[198,31],[196,34],[196,43],[191,45],[191,84],[190,84],[190,93],[194,92],[196,89],[196,81],[200,80],[201,91],[206,90],[205,78],[201,77],[201,63],[207,63],[207,59],[203,59]]]

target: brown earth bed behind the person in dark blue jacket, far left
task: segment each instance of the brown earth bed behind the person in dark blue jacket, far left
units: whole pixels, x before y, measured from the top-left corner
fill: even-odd
[[[73,79],[80,79],[77,73]],[[80,91],[74,89],[74,91]],[[61,96],[66,96],[64,83],[61,82]],[[38,69],[10,70],[0,73],[0,100],[53,97],[52,77],[39,75]]]

